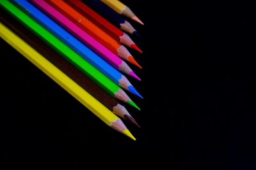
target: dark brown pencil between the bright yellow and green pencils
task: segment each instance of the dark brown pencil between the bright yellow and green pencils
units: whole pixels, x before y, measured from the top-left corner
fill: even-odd
[[[125,107],[119,104],[116,99],[109,96],[109,94],[102,90],[99,85],[93,83],[93,81],[90,80],[86,75],[81,73],[81,71],[79,71],[76,67],[72,66],[72,64],[68,63],[67,60],[63,59],[60,54],[52,50],[52,48],[45,44],[44,41],[35,36],[35,34],[26,29],[26,27],[17,22],[17,20],[8,15],[8,13],[6,13],[4,10],[0,11],[0,22],[2,22],[17,36],[22,38],[26,43],[28,43],[29,46],[43,55],[45,59],[49,60],[49,62],[54,64],[54,66],[58,67],[60,71],[71,78],[75,83],[77,83],[77,85],[86,90],[86,92],[102,103],[106,108],[108,108],[108,110],[111,110],[116,115],[140,127],[136,120],[134,120],[134,118],[132,118],[129,112],[125,109]]]

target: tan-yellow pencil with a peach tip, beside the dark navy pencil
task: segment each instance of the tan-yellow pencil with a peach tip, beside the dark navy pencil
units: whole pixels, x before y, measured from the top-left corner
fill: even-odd
[[[135,20],[136,22],[144,25],[143,22],[141,22],[141,20],[138,17],[136,17],[136,15],[134,15],[131,9],[125,4],[123,4],[122,2],[118,0],[100,0],[100,1],[108,5],[109,8],[116,11],[117,13],[124,15],[125,17],[131,18],[132,20]]]

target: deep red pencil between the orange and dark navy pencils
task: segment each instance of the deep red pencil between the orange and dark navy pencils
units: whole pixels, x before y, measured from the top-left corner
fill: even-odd
[[[137,48],[137,50],[142,53],[140,48],[135,45],[127,34],[108,22],[108,20],[105,18],[101,17],[97,12],[93,11],[92,8],[82,3],[80,0],[65,0],[65,2],[70,4],[70,6],[72,6],[75,10],[79,11],[79,13],[88,18],[91,22],[93,22],[93,24],[106,31],[116,41],[124,45]]]

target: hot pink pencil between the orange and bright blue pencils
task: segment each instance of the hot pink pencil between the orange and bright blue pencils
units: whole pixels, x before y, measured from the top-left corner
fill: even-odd
[[[55,22],[60,24],[63,28],[67,29],[67,31],[76,36],[77,39],[79,39],[82,43],[91,48],[95,53],[100,55],[113,67],[140,80],[140,78],[132,71],[132,69],[126,64],[126,62],[124,62],[124,60],[120,59],[117,55],[115,55],[115,53],[108,50],[108,48],[106,48],[92,36],[87,34],[85,31],[83,31],[83,29],[78,27],[72,21],[68,20],[67,17],[52,8],[52,6],[46,3],[44,0],[31,0],[31,3],[35,4],[40,10],[44,11],[46,15],[55,20]]]

